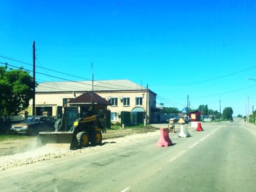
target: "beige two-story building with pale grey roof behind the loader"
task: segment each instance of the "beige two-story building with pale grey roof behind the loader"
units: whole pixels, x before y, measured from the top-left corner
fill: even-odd
[[[77,82],[43,82],[35,89],[35,115],[48,112],[58,116],[62,107],[86,91],[93,91],[110,102],[107,109],[112,123],[157,123],[160,112],[156,108],[157,94],[130,80],[97,80]],[[27,109],[32,115],[32,100]]]

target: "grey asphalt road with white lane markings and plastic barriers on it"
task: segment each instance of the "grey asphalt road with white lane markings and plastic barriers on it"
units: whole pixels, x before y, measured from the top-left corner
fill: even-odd
[[[165,125],[160,125],[160,127]],[[255,191],[256,126],[243,119],[0,172],[0,191]]]

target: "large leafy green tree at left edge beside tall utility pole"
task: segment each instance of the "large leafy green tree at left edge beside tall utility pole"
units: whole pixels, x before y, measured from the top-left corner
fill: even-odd
[[[33,78],[23,68],[0,67],[0,116],[17,115],[33,98]]]

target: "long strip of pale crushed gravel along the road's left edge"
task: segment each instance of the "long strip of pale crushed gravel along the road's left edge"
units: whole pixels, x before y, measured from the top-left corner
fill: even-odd
[[[98,148],[108,148],[112,145],[118,145],[123,144],[126,142],[130,142],[133,140],[138,140],[141,138],[147,138],[147,137],[157,137],[159,135],[158,131],[155,132],[148,132],[148,133],[141,133],[141,134],[134,134],[134,135],[127,135],[125,137],[121,138],[113,138],[108,140],[103,140],[102,143],[105,143],[101,146],[94,146],[94,147],[88,147],[83,149],[77,149],[77,150],[62,150],[62,149],[54,149],[51,148],[51,146],[43,146],[41,148],[36,148],[31,151],[23,152],[20,154],[14,154],[14,155],[7,155],[7,156],[1,156],[0,157],[0,171],[3,171],[7,168],[13,167],[13,166],[21,166],[21,165],[27,165],[30,163],[36,163],[41,161],[50,160],[52,158],[62,158],[70,155],[75,154],[82,154],[87,151],[95,150]]]

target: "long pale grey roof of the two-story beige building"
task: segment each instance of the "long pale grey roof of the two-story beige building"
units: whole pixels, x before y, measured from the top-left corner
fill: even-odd
[[[146,90],[145,87],[135,84],[130,80],[96,80],[87,81],[62,81],[62,82],[42,82],[35,88],[36,93],[46,92],[67,92],[67,91],[127,91]]]

